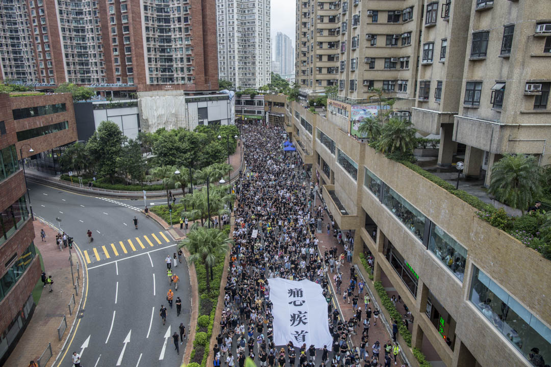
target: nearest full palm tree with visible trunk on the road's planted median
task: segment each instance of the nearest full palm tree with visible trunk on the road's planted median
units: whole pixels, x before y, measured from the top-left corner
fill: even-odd
[[[188,260],[201,262],[205,267],[207,293],[210,293],[208,270],[210,268],[212,274],[212,267],[216,264],[217,257],[227,253],[230,250],[231,243],[233,243],[233,240],[219,229],[199,227],[197,223],[194,223],[191,226],[190,233],[178,245],[179,248],[185,247],[190,251],[191,255]]]

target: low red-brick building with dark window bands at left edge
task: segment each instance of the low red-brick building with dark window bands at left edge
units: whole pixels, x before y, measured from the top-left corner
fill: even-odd
[[[33,243],[32,209],[18,156],[23,152],[25,158],[56,147],[60,141],[71,140],[73,131],[76,135],[74,117],[68,126],[63,123],[71,120],[66,116],[71,112],[61,112],[66,96],[72,105],[71,95],[10,98],[0,94],[0,260],[4,264],[0,269],[0,364],[33,316],[36,304],[31,292],[41,273]],[[31,149],[34,152],[29,152]]]

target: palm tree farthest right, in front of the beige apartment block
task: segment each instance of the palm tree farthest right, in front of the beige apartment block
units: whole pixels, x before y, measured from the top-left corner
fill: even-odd
[[[542,193],[542,172],[536,157],[507,154],[491,167],[490,194],[522,213]]]

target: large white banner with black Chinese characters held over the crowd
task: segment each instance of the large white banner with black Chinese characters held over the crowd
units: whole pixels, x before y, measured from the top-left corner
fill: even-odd
[[[273,304],[274,343],[295,346],[306,343],[331,350],[333,338],[327,322],[327,302],[320,284],[283,278],[268,280]]]

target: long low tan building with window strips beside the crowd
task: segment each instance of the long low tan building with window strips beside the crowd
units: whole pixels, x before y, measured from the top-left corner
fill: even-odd
[[[411,347],[401,335],[398,342],[410,365],[419,365],[413,348],[436,366],[531,366],[534,347],[551,360],[551,280],[542,276],[551,273],[549,260],[355,139],[341,114],[314,114],[285,101],[284,128],[336,226],[354,231],[353,261],[370,288],[381,282],[408,306]],[[375,258],[371,274],[361,253]]]

